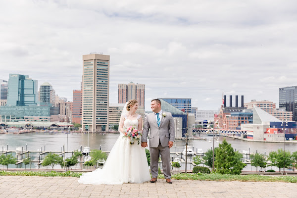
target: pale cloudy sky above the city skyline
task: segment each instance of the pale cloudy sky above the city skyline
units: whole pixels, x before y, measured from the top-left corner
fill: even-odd
[[[278,106],[279,88],[297,86],[296,0],[146,2],[0,1],[0,79],[27,74],[72,100],[97,51],[110,55],[110,103],[131,81],[146,84],[146,109],[170,97],[216,110],[222,92]]]

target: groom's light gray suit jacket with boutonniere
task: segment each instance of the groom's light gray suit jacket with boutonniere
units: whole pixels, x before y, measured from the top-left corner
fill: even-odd
[[[143,135],[141,138],[142,142],[148,142],[148,130],[149,133],[149,147],[156,148],[161,142],[162,147],[168,147],[168,142],[174,142],[174,120],[169,112],[163,111],[166,114],[162,117],[160,127],[158,127],[154,112],[147,115],[144,124]],[[162,116],[162,115],[160,115]]]

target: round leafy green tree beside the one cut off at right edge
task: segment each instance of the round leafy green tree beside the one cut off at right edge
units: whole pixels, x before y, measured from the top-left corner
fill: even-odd
[[[271,161],[272,166],[276,166],[279,168],[281,172],[281,168],[288,168],[292,164],[292,155],[289,150],[284,150],[279,148],[277,151],[269,152],[268,159]]]

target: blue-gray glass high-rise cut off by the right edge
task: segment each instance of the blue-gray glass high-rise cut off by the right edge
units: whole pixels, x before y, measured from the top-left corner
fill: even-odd
[[[293,112],[293,120],[297,121],[297,86],[279,88],[280,108]]]

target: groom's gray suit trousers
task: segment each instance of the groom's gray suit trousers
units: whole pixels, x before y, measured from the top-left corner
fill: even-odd
[[[162,147],[161,142],[157,148],[149,148],[150,152],[150,172],[152,178],[157,178],[158,176],[158,162],[159,154],[161,154],[162,167],[165,179],[171,178],[171,164],[170,164],[170,148]]]

